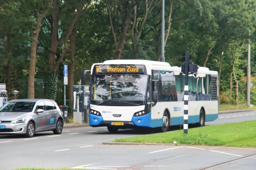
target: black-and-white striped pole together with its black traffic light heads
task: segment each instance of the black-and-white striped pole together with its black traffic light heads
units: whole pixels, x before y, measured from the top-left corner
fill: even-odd
[[[185,74],[185,86],[184,86],[184,116],[183,116],[183,133],[188,134],[189,128],[189,73],[197,73],[199,66],[193,62],[189,62],[189,51],[186,51],[185,64],[181,64],[181,72]]]

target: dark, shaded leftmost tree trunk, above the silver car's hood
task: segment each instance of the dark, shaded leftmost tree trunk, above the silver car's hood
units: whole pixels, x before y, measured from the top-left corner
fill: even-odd
[[[11,77],[10,77],[10,67],[11,67],[11,59],[12,59],[12,43],[11,43],[11,31],[7,32],[7,67],[6,67],[6,90],[7,93],[11,93]]]

